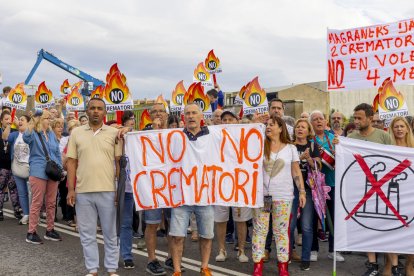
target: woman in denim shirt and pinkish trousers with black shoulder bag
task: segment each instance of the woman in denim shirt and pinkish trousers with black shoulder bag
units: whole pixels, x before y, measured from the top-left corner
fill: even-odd
[[[40,209],[43,199],[46,201],[46,221],[47,228],[44,238],[51,241],[61,241],[59,233],[54,229],[56,195],[58,190],[58,181],[49,179],[46,175],[46,155],[62,166],[62,159],[59,151],[59,142],[55,133],[50,129],[51,115],[47,110],[42,115],[33,117],[28,128],[23,134],[23,141],[29,145],[29,182],[32,190],[32,205],[30,206],[29,230],[27,232],[26,242],[32,244],[42,244],[43,241],[37,234],[37,225],[39,224]],[[45,144],[47,153],[44,152],[42,142]]]

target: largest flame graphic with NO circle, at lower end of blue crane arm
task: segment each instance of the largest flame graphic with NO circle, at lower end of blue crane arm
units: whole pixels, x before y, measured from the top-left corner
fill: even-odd
[[[112,104],[120,104],[129,100],[129,88],[124,74],[121,72],[112,74],[106,83],[104,97],[108,103]]]

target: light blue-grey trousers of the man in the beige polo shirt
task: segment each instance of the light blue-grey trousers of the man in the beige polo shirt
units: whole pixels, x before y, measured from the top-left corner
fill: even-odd
[[[115,272],[118,269],[119,260],[115,192],[77,193],[75,207],[86,269],[89,273],[98,272],[99,269],[99,251],[96,241],[99,215],[104,236],[104,266],[108,272]]]

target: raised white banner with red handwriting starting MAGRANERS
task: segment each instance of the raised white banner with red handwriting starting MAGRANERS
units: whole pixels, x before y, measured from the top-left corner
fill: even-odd
[[[414,19],[347,30],[328,30],[327,90],[413,83]]]

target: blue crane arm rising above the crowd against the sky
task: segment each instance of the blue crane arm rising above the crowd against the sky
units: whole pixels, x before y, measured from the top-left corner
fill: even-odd
[[[41,49],[38,53],[37,53],[37,60],[35,65],[33,66],[32,70],[30,71],[29,75],[27,76],[24,84],[28,85],[30,80],[32,79],[34,73],[37,70],[37,67],[39,67],[40,63],[42,62],[42,60],[45,59],[47,61],[49,61],[50,63],[56,65],[57,67],[71,73],[74,76],[77,76],[78,78],[82,79],[83,81],[85,81],[85,83],[87,85],[85,85],[85,87],[82,89],[82,94],[85,96],[89,96],[91,94],[91,92],[98,87],[99,85],[105,85],[105,83],[101,80],[98,80],[97,78],[92,77],[91,75],[67,64],[66,62],[63,62],[62,60],[58,59],[57,57],[55,57],[53,54]]]

